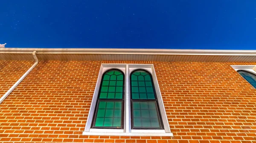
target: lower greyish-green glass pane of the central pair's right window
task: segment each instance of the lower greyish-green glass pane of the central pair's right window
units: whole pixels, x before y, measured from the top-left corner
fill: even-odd
[[[137,128],[160,128],[157,101],[133,101],[133,124]]]

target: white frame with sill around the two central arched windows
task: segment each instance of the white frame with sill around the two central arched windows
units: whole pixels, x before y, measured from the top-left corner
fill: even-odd
[[[124,129],[92,129],[93,114],[96,109],[96,101],[101,84],[102,74],[106,70],[119,69],[125,74],[125,102],[124,102]],[[131,129],[131,95],[130,95],[130,74],[137,69],[147,70],[151,73],[154,88],[157,94],[160,115],[162,117],[164,129]],[[98,80],[93,94],[93,99],[90,106],[90,111],[87,117],[87,123],[83,135],[109,135],[109,136],[170,136],[171,132],[166,111],[163,104],[163,98],[158,85],[157,76],[153,64],[101,64]]]

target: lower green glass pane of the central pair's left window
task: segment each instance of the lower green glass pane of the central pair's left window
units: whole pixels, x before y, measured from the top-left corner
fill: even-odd
[[[95,127],[121,127],[122,101],[99,101]]]

